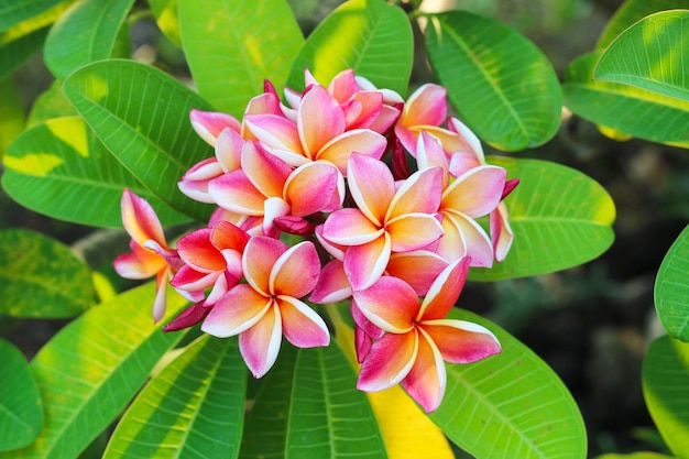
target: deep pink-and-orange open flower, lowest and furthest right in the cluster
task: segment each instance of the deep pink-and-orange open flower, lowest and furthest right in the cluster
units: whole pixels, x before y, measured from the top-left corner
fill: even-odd
[[[426,412],[433,412],[447,384],[444,360],[470,363],[501,351],[486,328],[445,318],[461,293],[468,269],[468,259],[450,264],[423,300],[404,281],[391,276],[354,292],[361,314],[385,332],[363,360],[358,389],[375,392],[401,383]]]

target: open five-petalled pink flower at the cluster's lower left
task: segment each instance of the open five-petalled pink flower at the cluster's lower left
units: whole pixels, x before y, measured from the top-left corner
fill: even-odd
[[[299,298],[308,295],[320,273],[313,242],[292,248],[280,240],[251,238],[242,256],[245,284],[230,288],[201,325],[207,334],[239,335],[239,349],[255,378],[277,358],[282,336],[299,348],[328,346],[325,321]]]

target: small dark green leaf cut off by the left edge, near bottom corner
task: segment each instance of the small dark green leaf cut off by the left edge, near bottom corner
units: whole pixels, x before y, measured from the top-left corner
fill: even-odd
[[[43,428],[36,381],[21,351],[0,338],[0,451],[29,446]]]

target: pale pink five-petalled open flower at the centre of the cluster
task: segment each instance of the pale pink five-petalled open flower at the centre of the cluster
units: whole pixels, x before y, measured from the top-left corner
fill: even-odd
[[[358,208],[332,212],[322,237],[347,247],[343,267],[353,289],[373,284],[392,252],[424,249],[442,236],[436,218],[442,171],[430,167],[409,176],[398,189],[385,163],[353,153],[349,189]]]

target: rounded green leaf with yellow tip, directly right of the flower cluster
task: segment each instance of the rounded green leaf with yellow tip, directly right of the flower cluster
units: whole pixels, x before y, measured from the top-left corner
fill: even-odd
[[[489,162],[520,179],[505,199],[514,243],[504,262],[472,267],[470,278],[545,274],[586,263],[610,248],[615,206],[595,181],[547,161],[490,156]]]

